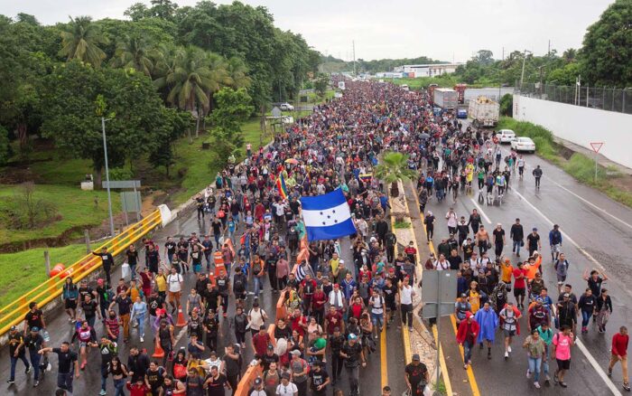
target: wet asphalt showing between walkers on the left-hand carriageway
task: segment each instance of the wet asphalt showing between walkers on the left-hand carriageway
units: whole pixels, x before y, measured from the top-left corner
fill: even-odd
[[[164,241],[168,236],[174,237],[174,240],[177,240],[180,236],[188,237],[191,235],[191,232],[198,232],[198,235],[203,235],[209,229],[209,217],[207,216],[206,222],[200,222],[197,220],[196,212],[190,212],[185,214],[182,217],[179,217],[174,222],[167,225],[162,230],[155,232],[153,235],[153,240],[161,246],[161,253],[163,252]],[[342,240],[342,252],[343,259],[345,259],[345,265],[351,269],[352,259],[351,259],[351,250],[349,248],[349,238],[345,238]],[[141,253],[143,255],[143,253]],[[144,262],[144,258],[141,258],[139,261],[141,263]],[[204,267],[204,266],[202,266]],[[112,274],[112,279],[120,278],[120,269],[116,269],[116,272]],[[232,277],[231,277],[232,278]],[[252,283],[252,282],[251,282]],[[188,272],[184,276],[184,287],[182,288],[182,301],[184,301],[184,297],[188,294],[189,290],[193,288],[195,285],[195,278],[192,273]],[[252,284],[248,285],[249,288],[252,289]],[[264,292],[260,295],[259,301],[261,306],[264,308],[265,312],[268,316],[273,319],[275,313],[275,306],[278,294],[273,294],[271,292],[271,288],[267,283],[267,277],[265,277],[265,288]],[[228,306],[228,319],[230,319],[234,315],[235,310],[235,301],[233,297],[230,297],[231,301]],[[252,303],[253,297],[248,297],[249,305]],[[248,306],[249,306],[248,305]],[[115,307],[116,309],[116,307]],[[175,319],[175,318],[174,318]],[[186,319],[186,314],[185,314]],[[51,315],[46,316],[47,321],[47,329],[51,334],[51,343],[49,345],[58,346],[62,341],[70,341],[70,337],[73,334],[73,326],[68,321],[68,316],[61,310],[57,309],[51,312]],[[267,325],[272,323],[269,321]],[[96,325],[97,336],[103,334],[103,326],[98,322]],[[129,344],[121,343],[119,345],[119,356],[122,358],[124,363],[127,362],[127,356],[130,345],[136,344],[140,345],[139,335],[137,334],[135,329],[130,330],[130,342]],[[144,339],[144,344],[142,347],[147,349],[148,354],[151,356],[153,354],[153,341],[152,336],[150,335],[151,330],[147,330],[147,334]],[[181,346],[186,346],[188,343],[188,337],[186,335],[186,327],[182,329],[176,327],[175,335],[177,338],[177,344],[174,347],[174,351],[177,351]],[[384,340],[385,337],[382,337]],[[222,355],[221,352],[224,350],[224,346],[227,344],[235,343],[235,335],[233,334],[232,329],[228,327],[228,321],[226,319],[220,319],[220,335],[218,337],[218,354]],[[360,370],[360,389],[362,394],[373,395],[380,394],[380,390],[382,386],[386,385],[387,382],[390,384],[391,388],[394,389],[394,394],[402,394],[404,391],[405,383],[403,379],[404,372],[404,354],[402,351],[402,336],[400,330],[397,329],[396,326],[392,326],[387,330],[386,336],[386,348],[377,348],[375,354],[371,354],[367,360],[367,367]],[[73,346],[74,350],[77,350],[76,345]],[[100,391],[100,362],[101,358],[98,354],[98,350],[93,350],[88,353],[88,366],[85,371],[80,373],[80,378],[75,379],[74,381],[74,394],[77,395],[89,395],[94,394],[97,395]],[[381,351],[386,350],[386,363],[387,365],[387,377],[382,378],[381,375],[381,367],[382,367],[382,359],[381,359]],[[203,354],[204,358],[208,357],[209,352]],[[27,354],[28,356],[28,354]],[[252,361],[253,352],[250,343],[250,335],[246,335],[246,352],[244,354],[244,371],[247,368],[247,364]],[[0,351],[0,372],[2,372],[2,378],[5,380],[9,379],[10,373],[10,359],[8,356],[8,348],[3,348]],[[40,394],[53,394],[56,390],[56,379],[57,379],[57,357],[55,354],[51,354],[51,363],[52,363],[52,371],[47,372],[45,379],[40,383],[38,388],[33,388],[33,373],[30,375],[24,375],[24,367],[22,362],[18,362],[16,374],[15,374],[15,384],[8,385],[3,384],[2,391],[0,394],[3,395],[25,395],[25,394],[35,394],[37,391]],[[328,372],[330,371],[330,365],[328,364]],[[340,379],[338,385],[340,389],[342,389],[345,394],[349,393],[349,385],[347,382],[346,374],[343,371],[342,378]],[[127,394],[128,391],[125,391]],[[114,394],[114,386],[113,382],[110,379],[107,380],[107,394]],[[227,391],[227,395],[230,392]]]

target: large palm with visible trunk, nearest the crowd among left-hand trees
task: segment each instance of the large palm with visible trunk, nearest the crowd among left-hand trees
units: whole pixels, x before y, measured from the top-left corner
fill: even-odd
[[[193,113],[199,106],[209,106],[207,92],[214,81],[204,51],[190,46],[176,51],[172,68],[165,70],[163,77],[154,80],[154,83],[158,88],[169,90],[168,102]],[[200,129],[199,113],[197,118],[196,137]],[[189,140],[192,142],[191,134]]]

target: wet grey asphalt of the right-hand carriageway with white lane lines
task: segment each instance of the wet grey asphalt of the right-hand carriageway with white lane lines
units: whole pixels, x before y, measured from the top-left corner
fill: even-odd
[[[506,154],[509,147],[504,147]],[[497,332],[496,343],[492,347],[492,359],[487,359],[487,351],[479,351],[478,347],[472,355],[473,378],[462,368],[462,358],[455,341],[455,331],[451,320],[443,318],[441,322],[441,343],[444,348],[446,362],[449,366],[451,383],[454,391],[460,395],[472,394],[478,387],[481,395],[505,395],[511,392],[514,395],[526,394],[564,394],[564,395],[609,395],[621,394],[622,390],[621,369],[616,367],[610,381],[605,372],[609,363],[609,348],[612,335],[618,332],[620,325],[632,324],[632,310],[628,302],[632,297],[632,290],[628,287],[632,281],[632,271],[629,267],[629,257],[632,255],[632,211],[623,205],[613,202],[605,195],[577,183],[571,176],[561,169],[546,163],[534,155],[525,155],[526,169],[524,180],[518,180],[512,175],[510,189],[505,194],[501,206],[487,206],[479,203],[478,188],[473,186],[472,196],[463,195],[452,203],[449,196],[442,203],[438,203],[436,197],[432,197],[426,205],[426,211],[431,210],[436,217],[434,245],[438,245],[441,238],[448,238],[448,228],[445,214],[452,206],[457,215],[469,217],[472,209],[478,209],[483,224],[489,231],[502,223],[506,231],[507,245],[504,254],[512,255],[511,242],[509,241],[509,229],[520,218],[525,230],[525,236],[533,227],[537,227],[542,238],[542,254],[544,255],[543,269],[546,287],[549,295],[555,301],[558,297],[555,282],[555,272],[551,260],[548,244],[548,231],[553,228],[553,223],[560,225],[562,231],[562,251],[571,263],[567,282],[573,286],[573,292],[579,298],[587,287],[586,281],[581,278],[584,269],[599,269],[604,271],[609,280],[603,283],[603,288],[609,289],[612,298],[613,314],[607,326],[606,334],[599,334],[592,322],[589,325],[589,333],[578,335],[577,344],[572,349],[571,371],[567,373],[565,382],[567,389],[555,385],[544,386],[544,378],[541,378],[543,388],[536,390],[533,380],[525,378],[526,356],[521,348],[525,339],[525,319],[521,320],[522,335],[514,340],[513,353],[506,362],[504,360],[503,337]],[[535,165],[541,165],[544,170],[542,185],[539,190],[534,187],[534,177],[531,174]],[[517,171],[516,171],[517,174]],[[474,180],[476,184],[476,180]],[[406,191],[409,207],[414,216],[414,227],[419,246],[426,245],[419,218],[419,208],[414,200],[412,184]],[[470,236],[472,236],[470,234]],[[422,250],[424,248],[422,247]],[[493,251],[490,257],[493,259]],[[528,253],[526,253],[528,254]],[[516,256],[512,257],[512,263],[516,264]],[[525,258],[525,253],[521,259]],[[422,257],[422,263],[426,258]],[[510,293],[511,300],[513,295]],[[515,300],[514,300],[515,301]],[[581,324],[578,325],[578,333]],[[556,364],[551,364],[551,371]],[[474,380],[474,381],[472,381]],[[474,386],[474,382],[476,385]]]

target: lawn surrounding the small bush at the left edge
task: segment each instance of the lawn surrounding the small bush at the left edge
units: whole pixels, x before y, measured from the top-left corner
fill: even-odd
[[[0,184],[0,241],[20,246],[29,240],[57,238],[65,231],[98,226],[107,219],[107,193],[104,191],[81,191],[79,184],[74,186],[37,184],[35,197],[54,203],[61,219],[36,230],[10,230],[5,222],[5,210],[13,203],[20,187],[15,184]],[[95,205],[95,197],[98,205]],[[118,212],[120,203],[118,193],[112,194],[112,207]]]

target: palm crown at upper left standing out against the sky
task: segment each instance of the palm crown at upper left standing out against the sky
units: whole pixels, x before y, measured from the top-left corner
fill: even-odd
[[[107,44],[107,39],[101,35],[96,24],[92,24],[89,16],[70,16],[70,24],[67,30],[61,32],[60,55],[67,60],[79,59],[99,67],[101,61],[106,59],[106,52],[98,48],[98,44]]]

